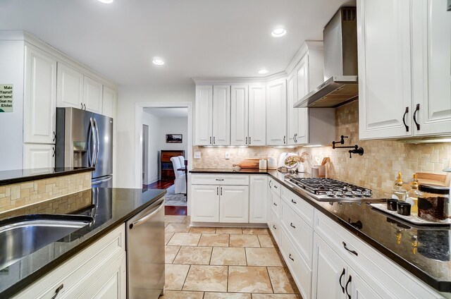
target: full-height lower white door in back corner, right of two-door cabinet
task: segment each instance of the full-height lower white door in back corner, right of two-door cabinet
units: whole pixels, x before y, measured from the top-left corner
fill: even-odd
[[[266,224],[268,209],[267,176],[250,176],[249,223]]]

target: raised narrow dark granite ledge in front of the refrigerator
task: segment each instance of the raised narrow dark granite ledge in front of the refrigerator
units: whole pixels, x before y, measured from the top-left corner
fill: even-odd
[[[27,181],[68,176],[70,174],[94,171],[94,167],[54,167],[42,169],[14,169],[0,171],[0,185],[10,185]]]

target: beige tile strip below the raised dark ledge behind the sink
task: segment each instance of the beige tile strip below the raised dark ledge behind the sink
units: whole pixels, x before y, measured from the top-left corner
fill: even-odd
[[[91,189],[91,172],[0,186],[0,213]]]

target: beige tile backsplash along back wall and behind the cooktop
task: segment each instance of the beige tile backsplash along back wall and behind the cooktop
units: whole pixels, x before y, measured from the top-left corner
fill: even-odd
[[[385,196],[391,195],[393,181],[398,171],[401,171],[404,181],[409,181],[416,172],[431,172],[446,174],[442,170],[451,161],[451,142],[429,144],[407,144],[395,140],[359,140],[359,106],[358,101],[340,106],[335,111],[335,140],[340,135],[349,136],[346,145],[359,145],[364,148],[364,155],[352,155],[345,149],[332,147],[247,147],[247,148],[215,148],[193,147],[193,152],[201,152],[201,159],[193,159],[194,168],[233,168],[246,158],[276,157],[282,152],[307,152],[304,162],[306,171],[316,164],[314,159],[330,157],[326,168],[329,178],[337,178],[371,188]],[[332,140],[330,140],[332,141]],[[224,155],[229,152],[230,159]],[[449,165],[451,166],[451,165]]]

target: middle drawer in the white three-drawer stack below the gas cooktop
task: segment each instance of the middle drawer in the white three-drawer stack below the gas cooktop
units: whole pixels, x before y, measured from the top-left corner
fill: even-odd
[[[305,262],[311,267],[312,249],[313,249],[313,228],[311,228],[299,215],[288,207],[285,201],[282,201],[282,216],[280,224],[287,231],[287,235],[296,245],[299,253]]]

